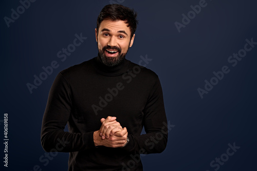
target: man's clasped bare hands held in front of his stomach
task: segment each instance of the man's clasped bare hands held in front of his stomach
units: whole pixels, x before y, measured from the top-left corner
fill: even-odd
[[[122,128],[116,121],[116,117],[101,119],[101,127],[94,132],[94,143],[96,146],[123,147],[127,140],[127,129]]]

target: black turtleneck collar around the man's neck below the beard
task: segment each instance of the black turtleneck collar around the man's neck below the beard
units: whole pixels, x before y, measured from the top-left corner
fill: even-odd
[[[102,75],[106,76],[117,76],[125,73],[128,70],[128,65],[130,61],[124,59],[120,64],[115,66],[106,66],[102,63],[100,56],[98,54],[97,57],[93,59],[93,66],[95,67],[96,71]]]

